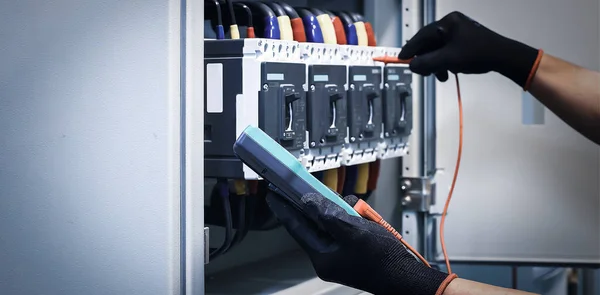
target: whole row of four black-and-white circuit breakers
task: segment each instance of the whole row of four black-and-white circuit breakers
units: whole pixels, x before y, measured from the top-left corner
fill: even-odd
[[[206,177],[258,179],[232,151],[249,125],[310,172],[406,154],[412,73],[373,61],[400,49],[274,39],[204,44]]]

